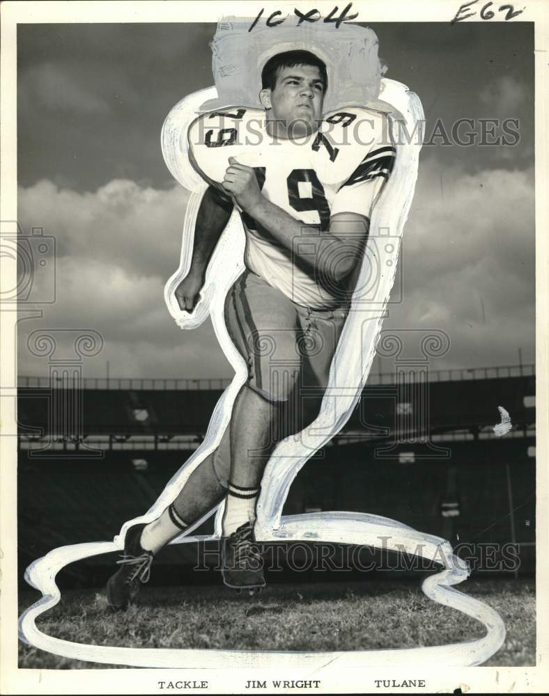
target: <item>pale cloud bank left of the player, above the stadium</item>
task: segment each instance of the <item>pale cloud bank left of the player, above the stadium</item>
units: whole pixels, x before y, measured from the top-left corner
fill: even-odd
[[[24,232],[40,226],[56,241],[56,301],[22,326],[20,374],[47,374],[47,358],[26,347],[31,331],[76,328],[98,331],[105,344],[84,361],[84,376],[104,376],[107,361],[114,377],[231,375],[210,322],[181,331],[164,304],[164,283],[179,264],[188,196],[179,186],[158,191],[128,180],[93,193],[49,181],[20,189]],[[49,280],[35,276],[33,296],[42,296]],[[65,342],[59,354],[70,355],[71,335],[57,340]]]

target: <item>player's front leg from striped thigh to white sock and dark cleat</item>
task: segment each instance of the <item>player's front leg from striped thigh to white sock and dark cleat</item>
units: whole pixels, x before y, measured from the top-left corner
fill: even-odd
[[[226,585],[258,587],[264,580],[261,557],[252,546],[255,507],[265,465],[285,436],[286,403],[300,371],[299,324],[293,303],[249,273],[232,289],[226,323],[247,360],[248,379],[231,416],[231,477],[223,517],[223,534],[229,541],[223,577]]]

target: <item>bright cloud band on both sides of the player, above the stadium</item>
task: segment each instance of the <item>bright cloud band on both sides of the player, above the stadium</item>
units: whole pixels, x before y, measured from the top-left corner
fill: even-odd
[[[20,189],[25,232],[57,242],[57,299],[40,320],[22,322],[20,372],[47,374],[26,349],[40,326],[99,331],[105,347],[85,376],[231,377],[210,323],[181,331],[164,306],[178,267],[188,193],[114,180],[77,193],[52,182]],[[403,301],[384,329],[439,329],[449,354],[432,369],[534,360],[534,184],[532,171],[476,175],[427,161],[406,224]],[[66,346],[70,349],[70,343]],[[419,355],[421,357],[421,355]],[[388,361],[383,369],[389,370]]]

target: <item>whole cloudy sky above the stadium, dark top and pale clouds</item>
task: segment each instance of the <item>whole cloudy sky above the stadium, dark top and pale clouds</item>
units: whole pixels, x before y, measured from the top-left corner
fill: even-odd
[[[424,146],[405,227],[403,301],[389,329],[439,329],[433,369],[534,361],[534,53],[530,24],[371,24],[387,77],[421,97],[429,135],[460,118],[515,118],[520,142]],[[210,323],[181,331],[162,296],[188,193],[160,152],[165,116],[212,84],[214,24],[18,28],[20,224],[56,239],[56,301],[22,322],[94,329],[86,377],[231,377]],[[464,129],[466,131],[466,128]],[[464,131],[462,131],[464,132]]]

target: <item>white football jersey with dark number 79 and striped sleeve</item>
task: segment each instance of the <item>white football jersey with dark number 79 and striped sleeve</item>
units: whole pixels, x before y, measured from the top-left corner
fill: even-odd
[[[317,132],[291,140],[272,138],[265,125],[262,109],[202,114],[188,132],[191,164],[224,195],[229,157],[254,168],[263,196],[302,221],[304,230],[289,249],[241,211],[246,266],[300,305],[334,308],[341,301],[317,282],[311,234],[326,232],[340,212],[370,218],[396,154],[389,120],[382,111],[348,107],[325,114]]]

